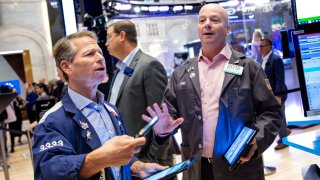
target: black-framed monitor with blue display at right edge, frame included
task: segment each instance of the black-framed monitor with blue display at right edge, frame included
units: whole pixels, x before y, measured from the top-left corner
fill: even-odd
[[[320,115],[320,32],[293,32],[305,116]]]

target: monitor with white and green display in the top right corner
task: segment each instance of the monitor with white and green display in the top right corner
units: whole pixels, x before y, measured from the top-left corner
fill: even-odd
[[[320,27],[320,1],[291,0],[296,29],[316,29]]]

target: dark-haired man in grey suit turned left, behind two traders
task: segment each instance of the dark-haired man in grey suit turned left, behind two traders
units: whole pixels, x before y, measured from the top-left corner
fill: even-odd
[[[137,44],[137,31],[132,22],[120,21],[108,27],[106,47],[119,59],[108,101],[119,108],[131,136],[146,125],[141,114],[147,113],[148,106],[161,102],[168,81],[163,65],[143,53]],[[152,132],[148,134],[137,157],[145,162],[171,165],[171,139],[159,146],[152,136]]]

